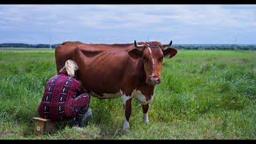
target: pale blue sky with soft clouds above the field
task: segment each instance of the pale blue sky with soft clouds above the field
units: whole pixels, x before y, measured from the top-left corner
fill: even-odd
[[[256,44],[256,5],[0,5],[0,43]]]

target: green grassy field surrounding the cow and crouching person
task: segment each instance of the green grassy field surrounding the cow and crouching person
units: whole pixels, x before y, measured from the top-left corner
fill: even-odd
[[[54,50],[0,50],[0,139],[256,139],[256,51],[179,51],[164,60],[150,124],[133,101],[130,132],[120,134],[121,98],[92,98],[82,131],[58,122],[33,134],[43,86],[56,72]]]

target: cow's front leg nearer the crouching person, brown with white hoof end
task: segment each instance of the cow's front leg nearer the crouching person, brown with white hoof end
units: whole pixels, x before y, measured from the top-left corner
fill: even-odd
[[[130,124],[129,124],[129,118],[131,114],[131,97],[123,95],[122,96],[122,102],[123,102],[123,108],[125,111],[125,118],[123,122],[123,129],[128,130],[130,129]]]

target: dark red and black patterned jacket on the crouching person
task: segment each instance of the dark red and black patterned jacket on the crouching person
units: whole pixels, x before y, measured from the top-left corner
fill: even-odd
[[[82,84],[60,73],[46,83],[38,114],[52,121],[62,121],[76,117],[79,109],[89,102],[90,95],[85,93]]]

